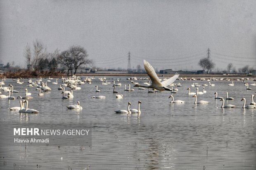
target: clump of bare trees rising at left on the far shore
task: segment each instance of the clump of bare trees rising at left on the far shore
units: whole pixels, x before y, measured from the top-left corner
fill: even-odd
[[[81,46],[71,46],[60,52],[58,49],[49,53],[41,40],[34,40],[32,47],[27,43],[24,49],[24,58],[28,70],[34,72],[58,70],[67,71],[71,75],[76,74],[82,65],[90,65],[92,61],[88,58],[87,51]]]

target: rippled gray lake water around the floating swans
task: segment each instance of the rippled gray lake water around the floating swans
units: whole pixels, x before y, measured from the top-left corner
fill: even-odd
[[[82,89],[74,90],[74,98],[68,100],[61,99],[58,85],[48,83],[52,91],[40,97],[34,87],[27,87],[33,96],[29,107],[37,109],[39,114],[10,112],[7,108],[19,106],[19,100],[0,99],[1,124],[73,122],[93,126],[92,146],[82,150],[79,147],[0,147],[0,169],[256,169],[256,109],[242,109],[240,101],[244,97],[249,104],[256,86],[246,90],[241,81],[235,81],[235,86],[228,86],[230,82],[225,80],[211,81],[215,86],[205,86],[207,93],[198,96],[198,100],[210,103],[194,105],[194,98],[187,95],[186,89],[192,83],[208,82],[177,80],[182,87],[173,96],[186,103],[171,104],[169,91],[147,93],[132,85],[135,91],[128,92],[124,91],[124,84],[131,84],[127,77],[107,78],[108,82],[119,78],[122,86],[116,87],[116,91],[123,94],[123,99],[116,99],[111,84],[102,85],[99,79],[82,84]],[[147,80],[135,82],[142,84]],[[12,94],[16,97],[24,96],[28,85],[16,84],[12,79],[7,79],[4,86],[8,84],[20,91]],[[95,85],[100,93],[95,92]],[[190,88],[195,92],[195,87]],[[221,109],[222,102],[214,99],[214,92],[222,97],[229,92],[235,100],[228,104],[237,108]],[[92,95],[104,95],[106,99],[92,99]],[[66,105],[76,104],[78,100],[82,110],[66,109]],[[115,110],[127,109],[129,101],[137,109],[138,100],[142,102],[140,115],[115,114]]]

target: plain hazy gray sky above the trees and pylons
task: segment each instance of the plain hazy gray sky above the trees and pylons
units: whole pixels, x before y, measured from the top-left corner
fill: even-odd
[[[84,47],[101,68],[143,59],[159,70],[256,65],[256,0],[0,0],[0,60],[25,66],[27,43]],[[256,66],[254,66],[256,69]]]

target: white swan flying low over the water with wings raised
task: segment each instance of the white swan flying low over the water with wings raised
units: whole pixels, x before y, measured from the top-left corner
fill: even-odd
[[[168,88],[167,86],[173,83],[179,77],[178,74],[175,74],[173,77],[167,80],[164,80],[163,82],[160,82],[152,65],[150,65],[145,60],[144,60],[144,68],[147,71],[147,74],[149,75],[152,84],[149,86],[142,86],[142,85],[136,84],[134,87],[154,88],[159,91],[171,91],[171,89]]]

